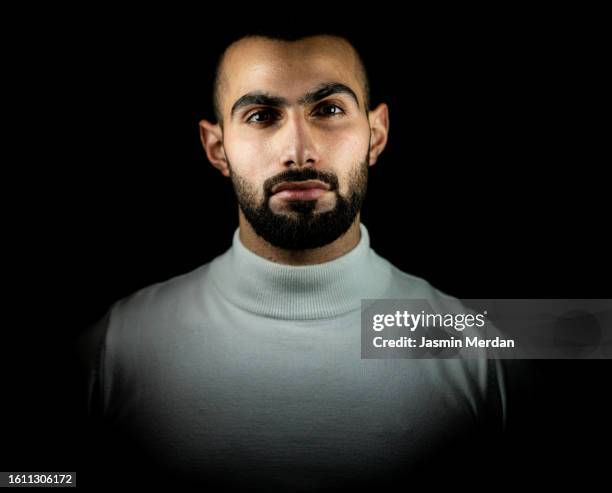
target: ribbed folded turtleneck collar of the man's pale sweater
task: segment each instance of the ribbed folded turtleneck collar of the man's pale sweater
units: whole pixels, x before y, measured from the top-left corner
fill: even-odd
[[[391,264],[370,248],[368,230],[349,252],[329,262],[292,266],[267,260],[244,246],[236,228],[232,246],[211,262],[210,273],[234,305],[270,318],[308,320],[361,307],[362,298],[382,298]]]

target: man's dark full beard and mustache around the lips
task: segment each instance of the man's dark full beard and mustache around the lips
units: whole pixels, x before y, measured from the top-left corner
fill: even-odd
[[[258,236],[270,244],[285,250],[306,250],[328,245],[346,233],[361,210],[368,185],[368,156],[351,175],[349,196],[338,192],[338,178],[314,168],[293,169],[275,176],[264,183],[264,200],[255,203],[255,196],[246,181],[231,172],[230,177],[240,209]],[[229,163],[228,163],[229,164]],[[231,166],[230,166],[231,170]],[[336,205],[326,212],[315,211],[315,200],[288,202],[294,212],[291,216],[276,214],[269,207],[271,189],[284,181],[320,180],[336,194]]]

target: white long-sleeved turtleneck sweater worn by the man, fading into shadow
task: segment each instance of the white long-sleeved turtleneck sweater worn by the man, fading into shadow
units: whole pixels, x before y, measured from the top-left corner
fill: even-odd
[[[81,340],[90,412],[173,472],[270,491],[409,473],[501,429],[499,361],[361,359],[361,299],[457,300],[360,230],[345,255],[289,266],[236,229],[211,262],[114,303]]]

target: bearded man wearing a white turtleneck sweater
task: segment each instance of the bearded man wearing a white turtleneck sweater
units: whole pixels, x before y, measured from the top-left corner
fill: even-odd
[[[240,38],[214,104],[200,133],[238,200],[231,248],[83,336],[90,412],[176,477],[269,491],[399,481],[501,429],[491,360],[360,357],[362,299],[456,300],[370,248],[389,114],[349,41]]]

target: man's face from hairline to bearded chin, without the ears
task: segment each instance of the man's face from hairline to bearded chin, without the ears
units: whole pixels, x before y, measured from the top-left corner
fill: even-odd
[[[344,42],[246,39],[226,53],[223,146],[254,231],[284,249],[326,245],[363,203],[370,128],[358,62]]]

